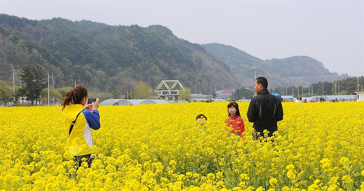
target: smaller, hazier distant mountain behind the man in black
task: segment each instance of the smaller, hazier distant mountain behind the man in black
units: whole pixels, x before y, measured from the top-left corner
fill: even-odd
[[[308,56],[293,56],[284,59],[261,60],[229,45],[211,43],[202,47],[229,65],[242,85],[250,87],[256,76],[268,78],[270,87],[300,85],[309,86],[318,81],[333,81],[346,78],[329,72],[324,64]]]

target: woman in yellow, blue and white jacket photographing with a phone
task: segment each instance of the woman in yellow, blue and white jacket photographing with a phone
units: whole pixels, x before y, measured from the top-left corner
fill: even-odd
[[[74,156],[76,166],[81,166],[85,161],[91,166],[91,147],[93,144],[91,128],[100,128],[99,99],[92,104],[87,104],[87,89],[77,84],[63,98],[62,111],[64,114],[64,127],[68,133],[66,150]],[[92,112],[87,110],[92,106]],[[86,109],[86,110],[85,110]],[[85,158],[85,159],[83,159]]]

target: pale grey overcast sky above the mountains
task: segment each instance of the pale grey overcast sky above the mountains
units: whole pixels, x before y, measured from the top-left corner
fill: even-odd
[[[192,43],[231,45],[263,60],[310,56],[330,72],[361,76],[363,2],[0,0],[0,13],[33,20],[159,24]]]

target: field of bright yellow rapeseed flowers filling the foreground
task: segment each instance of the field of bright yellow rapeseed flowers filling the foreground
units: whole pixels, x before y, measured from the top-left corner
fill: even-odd
[[[0,190],[364,191],[364,102],[282,104],[274,142],[253,141],[249,103],[244,139],[228,136],[226,102],[101,106],[78,171],[61,107],[2,107]]]

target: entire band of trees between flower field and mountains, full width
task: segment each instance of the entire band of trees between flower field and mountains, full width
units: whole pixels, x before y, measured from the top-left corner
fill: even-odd
[[[24,98],[30,101],[31,105],[39,102],[48,102],[47,88],[47,71],[40,65],[24,65],[21,72],[20,81],[22,85],[13,88],[9,83],[0,80],[0,100],[3,102],[12,102],[13,97],[19,104]],[[359,84],[359,85],[358,85]],[[275,87],[270,88],[270,92],[280,93],[281,95],[292,95],[293,97],[310,97],[319,95],[354,95],[355,91],[363,91],[364,76],[348,77],[346,79],[333,82],[324,81],[311,84],[309,87],[290,86],[290,87]],[[50,88],[50,102],[62,102],[63,96],[73,87]],[[186,88],[186,92],[180,95],[181,100],[189,99],[191,93],[190,88]],[[217,97],[217,93],[211,92],[213,98]],[[136,81],[132,78],[123,79],[115,85],[115,88],[108,92],[89,92],[89,97],[97,97],[102,100],[106,99],[153,99],[157,98],[154,95],[153,89],[144,81]],[[236,89],[232,94],[231,99],[252,99],[254,89],[241,87]],[[20,100],[23,98],[23,100]]]

